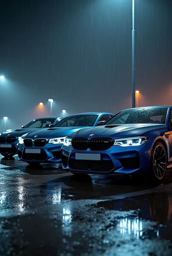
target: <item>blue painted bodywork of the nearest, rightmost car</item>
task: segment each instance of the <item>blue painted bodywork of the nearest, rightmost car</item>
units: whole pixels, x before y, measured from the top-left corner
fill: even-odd
[[[89,129],[82,129],[73,134],[70,134],[68,137],[73,138],[86,138],[90,140],[92,138],[111,138],[111,139],[120,139],[127,137],[137,137],[145,136],[148,138],[148,141],[143,145],[139,146],[111,146],[105,151],[92,151],[87,150],[74,150],[71,145],[62,146],[62,155],[68,158],[68,162],[62,159],[62,166],[66,171],[81,172],[81,173],[90,173],[90,174],[131,174],[132,172],[145,173],[149,171],[150,168],[150,157],[151,151],[154,143],[157,139],[161,139],[167,147],[168,155],[168,164],[172,161],[172,127],[169,126],[171,119],[171,106],[155,106],[155,107],[164,107],[168,108],[167,117],[165,119],[165,124],[126,124],[116,127],[108,128],[106,125],[99,127],[91,127]],[[139,109],[139,108],[138,108]],[[108,121],[107,121],[108,122]],[[165,137],[165,134],[170,134],[169,138]],[[94,137],[90,138],[90,134],[94,134]],[[95,171],[95,170],[79,170],[71,168],[69,164],[69,159],[75,159],[75,153],[99,153],[101,154],[101,160],[111,160],[114,164],[114,168],[111,171]],[[139,154],[140,158],[140,167],[139,168],[124,168],[120,159],[122,158],[131,158]]]

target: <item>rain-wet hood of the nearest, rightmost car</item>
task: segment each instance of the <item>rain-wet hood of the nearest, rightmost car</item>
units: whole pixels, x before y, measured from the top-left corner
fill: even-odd
[[[140,133],[146,132],[152,129],[159,129],[165,125],[155,124],[131,124],[131,125],[103,125],[98,127],[90,127],[79,130],[74,134],[70,134],[70,138],[84,137],[90,139],[97,137],[110,137],[110,138],[124,138],[138,136]],[[93,135],[94,134],[94,135]],[[93,135],[93,136],[89,136]]]

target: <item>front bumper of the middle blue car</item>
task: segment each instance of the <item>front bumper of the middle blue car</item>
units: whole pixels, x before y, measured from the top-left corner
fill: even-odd
[[[26,147],[24,144],[18,144],[19,161],[23,162],[61,162],[62,144],[47,143],[44,147]],[[33,153],[26,153],[26,149],[33,149]],[[40,149],[40,153],[34,153],[34,149]]]

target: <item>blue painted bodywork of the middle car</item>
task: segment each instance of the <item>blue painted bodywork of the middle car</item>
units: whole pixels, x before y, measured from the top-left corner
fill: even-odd
[[[100,113],[100,112],[93,112],[93,113],[81,113],[81,114],[76,114],[76,115],[97,115],[97,118],[94,122],[94,126],[97,125],[99,119],[103,116],[103,115],[114,115],[111,113]],[[73,115],[75,116],[75,115]],[[83,129],[85,127],[53,127],[47,130],[41,130],[41,131],[37,131],[37,132],[31,132],[29,134],[26,135],[26,138],[30,138],[30,139],[35,139],[34,136],[37,136],[36,139],[38,138],[47,138],[47,139],[52,139],[52,138],[60,138],[60,137],[66,137],[67,135],[69,135],[70,133],[73,133],[74,131]],[[87,127],[86,129],[89,129],[89,127]],[[48,163],[48,162],[61,162],[61,147],[63,144],[53,144],[53,143],[47,143],[44,147],[26,147],[24,144],[19,144],[18,145],[18,152],[19,152],[19,161],[24,161],[24,162],[39,162],[39,163]],[[22,155],[22,153],[25,153],[25,149],[41,149],[41,153],[46,153],[46,158],[44,160],[25,160]],[[58,152],[59,153],[59,157],[53,157],[54,152]]]

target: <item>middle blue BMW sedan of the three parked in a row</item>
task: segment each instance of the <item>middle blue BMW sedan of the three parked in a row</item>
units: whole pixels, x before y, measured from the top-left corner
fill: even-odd
[[[85,127],[102,125],[114,114],[83,113],[64,118],[47,130],[28,133],[18,144],[19,160],[29,164],[61,162],[61,147],[65,137]]]

